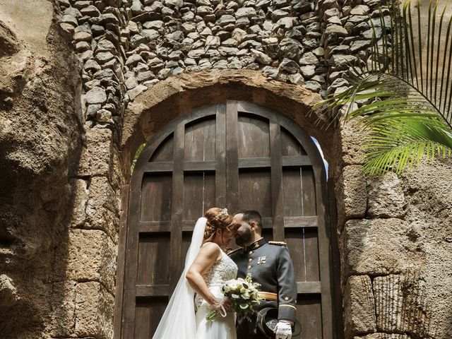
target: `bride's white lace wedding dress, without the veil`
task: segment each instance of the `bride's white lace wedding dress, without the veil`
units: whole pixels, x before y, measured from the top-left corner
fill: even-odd
[[[203,274],[206,284],[217,298],[224,297],[221,287],[227,280],[237,278],[237,265],[232,259],[221,251],[221,259],[213,264],[206,273]],[[196,303],[201,306],[196,311],[196,339],[236,339],[235,314],[227,313],[225,317],[218,314],[213,321],[207,321],[207,314],[212,311],[209,304],[202,299]]]

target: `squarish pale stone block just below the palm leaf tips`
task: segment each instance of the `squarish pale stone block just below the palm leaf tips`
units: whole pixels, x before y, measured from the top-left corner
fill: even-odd
[[[402,218],[405,215],[405,196],[396,174],[371,177],[367,186],[367,215],[369,217]]]

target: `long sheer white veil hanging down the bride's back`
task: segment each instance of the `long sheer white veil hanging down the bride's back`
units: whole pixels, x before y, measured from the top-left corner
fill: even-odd
[[[171,299],[169,299],[167,309],[165,309],[153,339],[196,338],[194,290],[190,287],[185,275],[203,244],[206,222],[206,218],[199,218],[196,221],[193,235],[191,236],[191,244],[185,257],[184,272],[179,278]]]

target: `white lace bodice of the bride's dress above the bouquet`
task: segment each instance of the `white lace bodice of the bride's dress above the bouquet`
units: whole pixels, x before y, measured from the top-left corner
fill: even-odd
[[[225,281],[237,278],[237,265],[225,252],[221,251],[221,259],[206,270],[203,278],[209,290],[221,289]]]

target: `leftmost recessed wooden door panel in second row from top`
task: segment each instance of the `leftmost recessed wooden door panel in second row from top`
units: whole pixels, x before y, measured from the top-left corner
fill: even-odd
[[[171,220],[172,180],[162,173],[143,177],[140,221]]]

